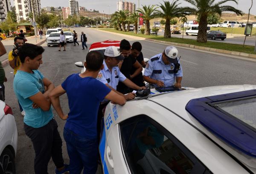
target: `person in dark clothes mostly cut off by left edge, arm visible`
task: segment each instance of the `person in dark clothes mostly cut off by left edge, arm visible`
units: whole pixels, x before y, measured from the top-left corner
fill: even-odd
[[[3,43],[0,41],[0,57],[6,53],[6,49],[3,46]],[[5,86],[4,82],[7,81],[5,76],[5,71],[2,66],[2,62],[0,61],[0,100],[5,101]]]

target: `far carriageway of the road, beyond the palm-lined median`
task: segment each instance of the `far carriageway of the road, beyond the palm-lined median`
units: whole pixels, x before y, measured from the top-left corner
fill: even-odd
[[[184,31],[185,32],[185,31]],[[164,32],[159,31],[158,35],[163,36]],[[178,37],[178,38],[182,38],[182,34],[172,34],[172,37]],[[184,33],[183,38],[186,39],[197,39],[197,36],[186,36],[186,34]],[[244,44],[244,37],[233,37],[233,38],[226,38],[225,40],[221,40],[221,39],[216,39],[216,40],[212,40],[212,39],[208,39],[207,41],[210,42],[221,42],[221,43],[232,43],[232,44]],[[245,45],[255,45],[255,41],[256,41],[256,37],[247,37],[246,41],[245,41]]]

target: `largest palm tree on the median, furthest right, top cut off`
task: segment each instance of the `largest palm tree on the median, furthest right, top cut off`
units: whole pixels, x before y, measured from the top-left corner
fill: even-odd
[[[235,12],[237,15],[242,15],[242,11],[234,8],[233,6],[224,5],[224,3],[233,1],[238,4],[238,0],[185,0],[190,3],[193,7],[184,7],[183,10],[189,14],[198,16],[199,26],[198,26],[198,42],[207,42],[207,17],[209,14],[219,14],[223,11]]]

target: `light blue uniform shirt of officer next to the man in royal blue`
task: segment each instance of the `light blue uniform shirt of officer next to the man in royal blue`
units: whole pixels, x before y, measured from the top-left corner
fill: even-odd
[[[99,71],[97,80],[101,81],[104,84],[108,84],[116,90],[116,86],[119,81],[125,81],[126,77],[121,73],[119,67],[112,67],[112,72],[108,69],[108,66],[103,61],[104,69]]]

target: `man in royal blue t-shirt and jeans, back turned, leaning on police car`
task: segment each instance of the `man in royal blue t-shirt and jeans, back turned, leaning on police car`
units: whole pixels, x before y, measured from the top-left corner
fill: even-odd
[[[96,80],[103,68],[103,56],[98,51],[90,51],[86,56],[84,73],[76,73],[50,93],[52,105],[61,119],[67,122],[64,139],[70,157],[70,174],[95,174],[97,171],[97,113],[100,102],[106,98],[116,104],[125,104],[125,98],[115,93],[105,84]],[[61,109],[59,96],[67,93],[70,112],[65,115]]]

